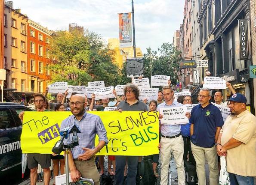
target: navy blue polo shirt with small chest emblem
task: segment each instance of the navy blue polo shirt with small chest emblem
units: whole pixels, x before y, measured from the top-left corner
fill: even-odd
[[[189,122],[194,124],[191,142],[204,148],[211,148],[215,145],[216,128],[224,124],[219,108],[211,103],[204,108],[201,104],[193,107]]]

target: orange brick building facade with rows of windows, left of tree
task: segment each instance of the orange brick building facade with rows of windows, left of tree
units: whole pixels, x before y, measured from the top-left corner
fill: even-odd
[[[52,32],[40,24],[28,20],[28,89],[44,93],[51,81],[49,41]]]

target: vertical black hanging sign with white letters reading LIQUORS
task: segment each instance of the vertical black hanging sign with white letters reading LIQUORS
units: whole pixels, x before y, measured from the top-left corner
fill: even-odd
[[[240,36],[240,60],[247,60],[248,47],[247,47],[247,20],[238,19],[239,36]]]

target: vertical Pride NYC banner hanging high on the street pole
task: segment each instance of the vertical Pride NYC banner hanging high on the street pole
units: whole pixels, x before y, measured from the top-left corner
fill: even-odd
[[[131,13],[118,14],[120,48],[131,47],[133,45],[131,17]]]

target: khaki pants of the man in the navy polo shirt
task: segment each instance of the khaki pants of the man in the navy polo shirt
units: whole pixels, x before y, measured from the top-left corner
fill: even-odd
[[[204,148],[196,146],[191,142],[191,149],[197,165],[197,177],[199,185],[206,185],[205,177],[205,156],[208,161],[210,171],[210,185],[217,185],[219,182],[219,169],[216,147]]]

